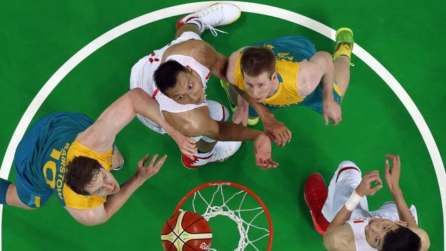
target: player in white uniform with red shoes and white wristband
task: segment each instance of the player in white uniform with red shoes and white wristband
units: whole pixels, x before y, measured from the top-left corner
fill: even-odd
[[[305,184],[305,202],[316,230],[324,235],[327,250],[427,250],[430,240],[418,227],[415,206],[408,208],[399,187],[399,156],[386,155],[385,180],[395,202],[386,202],[377,211],[369,211],[366,195],[382,189],[379,171],[362,177],[351,161],[342,162],[331,179],[329,189],[320,174],[309,176]]]

